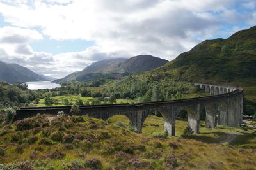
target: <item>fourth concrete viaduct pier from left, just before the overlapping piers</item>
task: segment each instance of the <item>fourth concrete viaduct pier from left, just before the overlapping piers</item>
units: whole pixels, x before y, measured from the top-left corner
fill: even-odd
[[[215,128],[217,125],[217,113],[218,113],[218,108],[214,103],[212,104],[207,104],[205,106],[205,112],[206,112],[206,117],[205,117],[205,123],[206,127],[208,128]]]

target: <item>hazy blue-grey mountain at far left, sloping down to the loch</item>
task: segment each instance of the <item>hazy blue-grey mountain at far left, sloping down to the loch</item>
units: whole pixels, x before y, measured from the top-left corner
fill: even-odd
[[[45,78],[19,64],[6,64],[0,61],[0,80],[6,81],[6,83],[24,83],[28,81],[45,81]]]

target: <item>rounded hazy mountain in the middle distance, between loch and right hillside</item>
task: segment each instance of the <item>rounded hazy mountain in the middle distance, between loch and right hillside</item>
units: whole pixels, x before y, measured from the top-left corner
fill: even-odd
[[[72,73],[55,80],[60,83],[64,81],[92,81],[98,78],[116,79],[129,74],[143,73],[157,67],[163,66],[168,60],[160,59],[151,55],[138,55],[130,59],[108,59],[94,62],[78,73]]]

